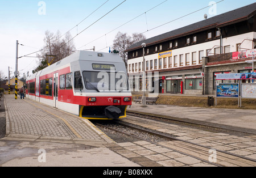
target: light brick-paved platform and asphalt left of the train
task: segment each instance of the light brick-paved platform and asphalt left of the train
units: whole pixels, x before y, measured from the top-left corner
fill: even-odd
[[[88,120],[26,98],[15,100],[14,95],[5,95],[4,104],[1,167],[138,166],[108,149],[113,140]]]

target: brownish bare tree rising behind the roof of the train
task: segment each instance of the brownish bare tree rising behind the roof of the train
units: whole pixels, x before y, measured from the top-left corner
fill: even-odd
[[[39,66],[33,71],[33,73],[48,66],[48,63],[52,60],[52,57],[49,56],[55,56],[52,61],[52,63],[55,63],[67,56],[70,56],[76,50],[76,47],[71,40],[72,36],[69,32],[66,33],[64,39],[61,39],[60,31],[57,31],[56,35],[52,32],[46,31],[45,35],[43,51],[37,55],[40,59]]]

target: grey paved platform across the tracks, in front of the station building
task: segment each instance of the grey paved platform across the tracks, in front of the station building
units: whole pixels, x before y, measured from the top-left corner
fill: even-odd
[[[256,134],[256,111],[254,109],[196,108],[176,105],[142,107],[142,104],[133,103],[127,111]]]

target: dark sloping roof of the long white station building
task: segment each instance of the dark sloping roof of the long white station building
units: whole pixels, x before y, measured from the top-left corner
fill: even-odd
[[[256,3],[253,3],[251,5],[241,7],[240,9],[229,11],[221,15],[216,15],[212,18],[191,24],[189,26],[175,29],[174,31],[163,33],[162,35],[158,35],[155,37],[151,37],[150,39],[140,41],[138,43],[131,45],[126,50],[126,52],[142,48],[142,43],[146,43],[147,45],[162,43],[164,41],[177,39],[178,37],[191,35],[196,32],[205,31],[207,29],[220,28],[230,24],[242,22],[244,20],[250,19],[255,14]]]

